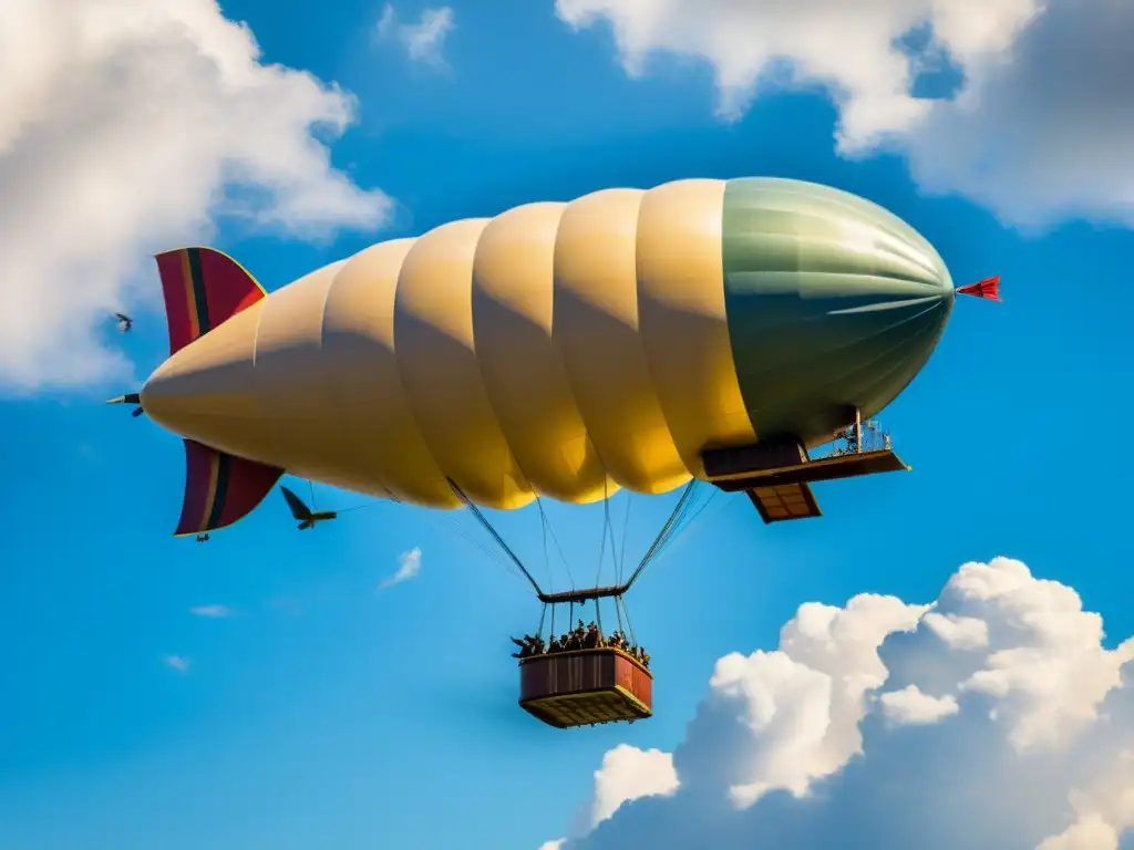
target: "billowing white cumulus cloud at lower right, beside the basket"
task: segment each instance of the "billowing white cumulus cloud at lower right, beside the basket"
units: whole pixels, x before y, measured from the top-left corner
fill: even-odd
[[[561,850],[1118,850],[1134,638],[1103,637],[1072,588],[1006,558],[964,564],[928,606],[803,605],[778,649],[718,661],[672,787],[600,771],[615,809]]]

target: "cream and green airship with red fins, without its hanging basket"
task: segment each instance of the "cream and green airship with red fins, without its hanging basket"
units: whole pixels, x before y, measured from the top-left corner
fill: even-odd
[[[525,204],[270,295],[210,248],[158,266],[170,357],[130,400],[185,439],[179,535],[237,521],[285,470],[474,510],[700,479],[765,521],[814,517],[811,482],[905,466],[809,449],[905,389],[956,292],[997,298],[995,278],[955,289],[880,206],[772,178]]]

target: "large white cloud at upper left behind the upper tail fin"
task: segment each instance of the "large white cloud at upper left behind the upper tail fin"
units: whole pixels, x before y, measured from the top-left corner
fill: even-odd
[[[160,305],[150,255],[211,216],[316,237],[387,219],[320,141],[353,99],[260,59],[214,0],[0,3],[0,388],[127,377],[100,325]]]

